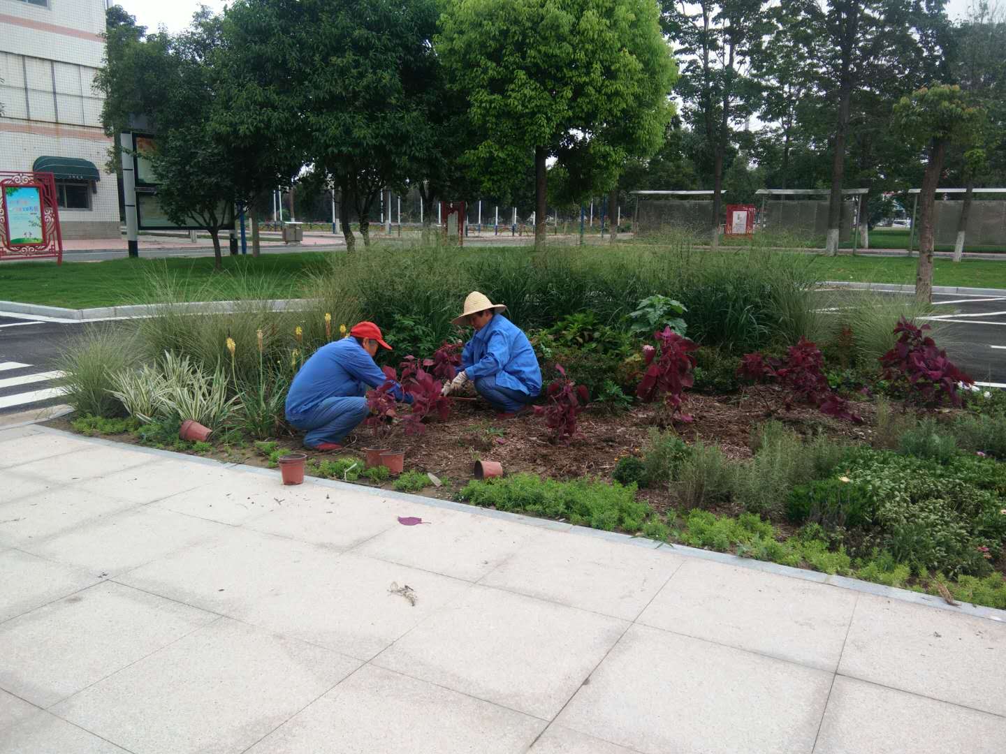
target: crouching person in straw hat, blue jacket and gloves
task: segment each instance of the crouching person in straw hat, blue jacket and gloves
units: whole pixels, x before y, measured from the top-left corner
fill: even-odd
[[[505,309],[478,291],[468,295],[454,324],[470,325],[475,335],[462,351],[462,371],[443,390],[450,395],[471,381],[500,419],[527,410],[541,392],[541,369],[534,349],[523,331],[503,317]]]

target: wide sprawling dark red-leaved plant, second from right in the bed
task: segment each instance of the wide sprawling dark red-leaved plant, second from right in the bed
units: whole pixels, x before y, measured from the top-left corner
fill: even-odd
[[[849,402],[832,391],[823,366],[820,349],[801,338],[796,346],[790,346],[786,361],[767,358],[760,353],[744,354],[737,377],[751,382],[777,382],[798,400],[817,406],[821,413],[861,423],[862,417],[852,410]]]

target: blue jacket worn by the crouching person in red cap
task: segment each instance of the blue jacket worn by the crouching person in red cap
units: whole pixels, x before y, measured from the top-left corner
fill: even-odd
[[[360,383],[380,387],[387,377],[355,338],[328,343],[304,362],[287,393],[287,418],[310,411],[325,398],[362,395]],[[391,391],[396,400],[406,400],[401,386]],[[411,402],[408,400],[407,402]]]

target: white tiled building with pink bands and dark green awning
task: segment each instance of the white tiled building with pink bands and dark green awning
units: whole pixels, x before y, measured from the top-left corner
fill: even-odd
[[[55,174],[64,239],[119,238],[95,74],[105,0],[0,0],[0,171]]]

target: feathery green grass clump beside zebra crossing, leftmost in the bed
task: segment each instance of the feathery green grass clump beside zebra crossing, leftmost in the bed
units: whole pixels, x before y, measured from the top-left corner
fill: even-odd
[[[55,380],[62,388],[63,400],[78,414],[122,416],[122,402],[113,395],[114,375],[132,369],[136,349],[128,327],[86,326],[73,336],[56,361],[63,376]]]

